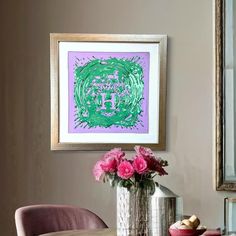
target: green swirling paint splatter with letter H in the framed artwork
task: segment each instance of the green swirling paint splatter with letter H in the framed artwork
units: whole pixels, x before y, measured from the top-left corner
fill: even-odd
[[[142,114],[140,58],[92,58],[75,65],[75,127],[135,128]]]

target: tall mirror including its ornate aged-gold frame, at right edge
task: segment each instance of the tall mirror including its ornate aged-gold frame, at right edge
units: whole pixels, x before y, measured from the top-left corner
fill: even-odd
[[[235,33],[236,0],[215,0],[216,190],[227,191],[236,191]]]

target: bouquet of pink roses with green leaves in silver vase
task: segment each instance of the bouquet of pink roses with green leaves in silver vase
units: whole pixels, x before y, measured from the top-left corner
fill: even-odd
[[[114,148],[105,153],[94,168],[93,175],[97,181],[109,181],[111,185],[122,186],[131,190],[146,188],[153,194],[157,183],[156,175],[167,175],[164,167],[167,161],[156,158],[150,148],[135,146],[135,155],[131,160],[125,157],[121,148]]]

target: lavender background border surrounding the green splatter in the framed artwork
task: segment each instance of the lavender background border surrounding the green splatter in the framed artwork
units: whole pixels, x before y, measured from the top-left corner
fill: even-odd
[[[118,59],[131,59],[133,57],[140,57],[138,61],[139,65],[143,68],[143,80],[144,80],[144,99],[142,102],[142,116],[139,116],[139,120],[142,121],[143,125],[138,124],[135,128],[125,128],[125,127],[115,127],[111,126],[109,128],[96,127],[77,127],[74,126],[75,119],[75,102],[74,102],[74,69],[76,61],[78,59],[81,62],[81,66],[85,65],[90,59],[109,59],[109,58],[118,58]],[[69,133],[148,133],[148,99],[149,99],[149,64],[150,56],[148,52],[77,52],[70,51],[68,52],[68,71],[69,71],[69,124],[68,131]]]

